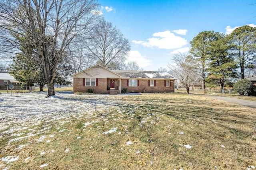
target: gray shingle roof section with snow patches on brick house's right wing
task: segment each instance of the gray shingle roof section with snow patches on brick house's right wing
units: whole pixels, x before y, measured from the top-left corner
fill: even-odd
[[[159,71],[127,71],[127,70],[112,70],[123,78],[162,78],[176,79],[168,72]]]

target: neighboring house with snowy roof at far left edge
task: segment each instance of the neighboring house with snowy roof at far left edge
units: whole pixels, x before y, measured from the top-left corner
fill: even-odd
[[[22,82],[17,81],[13,76],[6,72],[0,72],[0,90],[7,90],[8,85],[14,85],[14,89],[20,89]]]

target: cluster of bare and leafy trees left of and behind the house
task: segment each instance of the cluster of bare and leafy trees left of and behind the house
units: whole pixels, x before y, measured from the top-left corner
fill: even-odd
[[[47,84],[48,96],[92,65],[123,67],[130,42],[100,13],[96,0],[2,0],[0,58],[12,59],[17,80]]]

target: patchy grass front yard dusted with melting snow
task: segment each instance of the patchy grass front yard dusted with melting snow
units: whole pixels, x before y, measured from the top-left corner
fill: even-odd
[[[46,95],[0,94],[0,169],[256,167],[255,109],[186,94]]]

